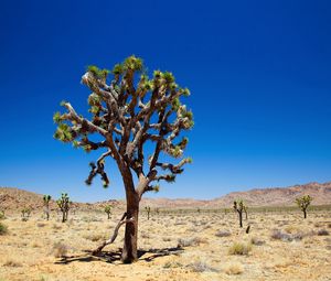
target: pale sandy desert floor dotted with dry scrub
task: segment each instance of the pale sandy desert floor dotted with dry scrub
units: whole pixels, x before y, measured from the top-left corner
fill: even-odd
[[[124,228],[100,257],[90,256],[120,216],[77,210],[62,224],[55,212],[50,221],[36,212],[28,221],[8,215],[0,221],[8,226],[0,236],[0,280],[331,280],[327,210],[307,219],[299,212],[253,213],[243,229],[234,213],[152,213],[148,220],[142,212],[136,263],[118,260]]]

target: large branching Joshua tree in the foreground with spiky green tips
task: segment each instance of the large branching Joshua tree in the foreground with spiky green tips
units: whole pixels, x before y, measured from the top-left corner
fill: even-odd
[[[111,80],[109,74],[113,74]],[[169,72],[156,71],[149,78],[142,61],[135,56],[116,64],[111,72],[89,66],[82,83],[92,91],[88,97],[92,118],[84,118],[70,102],[63,101],[66,112],[54,115],[58,125],[54,137],[86,152],[106,149],[96,163],[89,164],[88,185],[96,175],[100,175],[107,187],[109,179],[105,160],[115,160],[122,176],[127,202],[126,213],[119,223],[126,224],[121,260],[132,262],[138,258],[141,196],[146,192],[158,191],[156,182],[174,182],[175,176],[183,172],[183,165],[192,162],[190,158],[182,159],[188,138],[178,140],[183,130],[193,127],[192,111],[180,101],[190,91],[179,87]],[[98,141],[93,141],[90,134],[98,134]],[[151,154],[146,155],[147,152]],[[161,162],[162,153],[181,161],[174,164]]]

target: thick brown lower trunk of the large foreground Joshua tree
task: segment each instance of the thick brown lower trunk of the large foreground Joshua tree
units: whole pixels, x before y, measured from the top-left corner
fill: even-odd
[[[124,263],[131,263],[138,259],[139,201],[137,193],[127,190],[127,219],[134,218],[134,221],[126,224],[125,242],[121,253],[121,261]]]

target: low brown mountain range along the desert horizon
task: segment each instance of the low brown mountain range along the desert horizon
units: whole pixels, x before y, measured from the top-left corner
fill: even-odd
[[[331,182],[308,183],[289,187],[255,188],[245,192],[232,192],[218,198],[201,201],[191,198],[143,198],[141,206],[149,205],[160,208],[224,208],[232,207],[234,199],[244,199],[248,206],[290,206],[295,199],[305,194],[313,197],[312,205],[331,204]],[[15,209],[30,206],[33,209],[42,208],[42,195],[13,187],[0,187],[0,209]],[[106,204],[124,208],[122,201],[105,201],[93,204],[74,203],[75,207],[100,208]],[[51,203],[56,208],[55,202]]]

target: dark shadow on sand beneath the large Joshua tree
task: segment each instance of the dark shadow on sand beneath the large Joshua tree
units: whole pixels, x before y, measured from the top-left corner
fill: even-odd
[[[157,258],[166,256],[179,256],[184,251],[180,246],[163,249],[148,249],[138,250],[138,261],[150,262]],[[55,261],[55,264],[68,264],[71,262],[90,262],[90,261],[103,261],[108,263],[122,264],[120,262],[121,249],[116,251],[100,251],[99,253],[93,255],[93,251],[85,250],[85,253],[77,256],[66,256],[62,257],[60,260]]]

